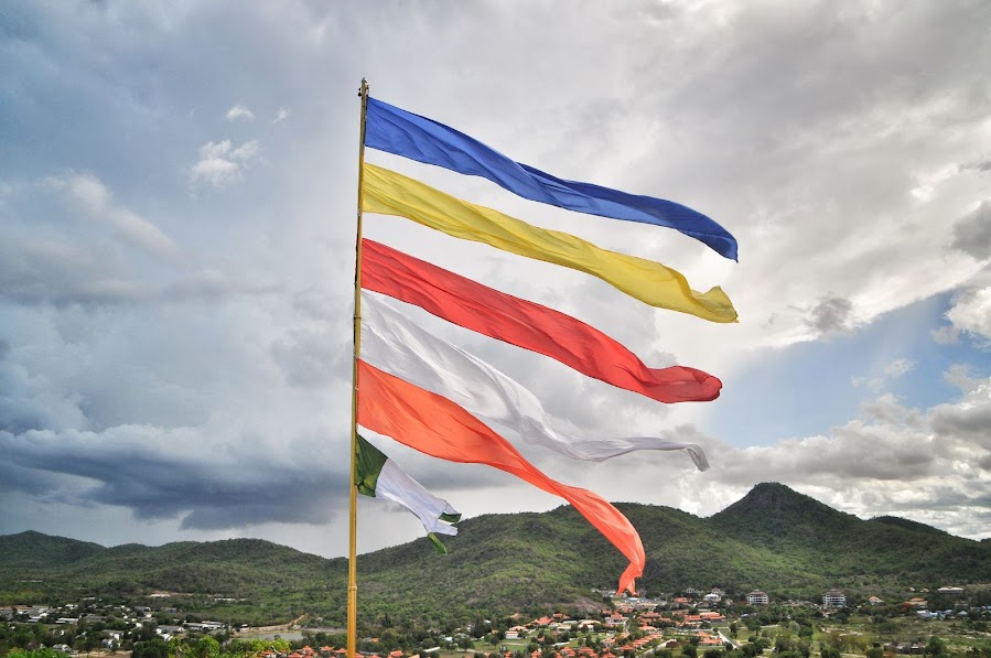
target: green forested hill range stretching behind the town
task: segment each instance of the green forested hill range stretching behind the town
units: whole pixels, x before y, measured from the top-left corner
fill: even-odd
[[[617,504],[638,529],[648,593],[720,586],[745,594],[818,598],[833,586],[883,593],[907,585],[991,582],[991,542],[881,517],[863,520],[779,484],[761,484],[723,511],[699,518],[668,507]],[[485,515],[460,524],[437,555],[426,539],[360,555],[363,608],[435,618],[465,611],[594,605],[614,587],[624,558],[570,506]],[[0,604],[78,592],[153,591],[278,601],[276,613],[343,621],[346,562],[252,539],[104,548],[39,532],[0,537]]]

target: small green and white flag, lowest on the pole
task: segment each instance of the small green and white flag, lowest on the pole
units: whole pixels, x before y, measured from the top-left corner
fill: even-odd
[[[457,535],[457,528],[451,524],[461,520],[461,515],[446,500],[434,496],[407,475],[395,461],[360,434],[355,444],[355,483],[359,494],[386,498],[410,510],[423,524],[427,537],[437,551],[448,552],[437,535]]]

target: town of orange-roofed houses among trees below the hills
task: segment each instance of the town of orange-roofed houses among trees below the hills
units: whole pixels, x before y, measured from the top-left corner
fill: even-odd
[[[991,656],[988,589],[909,589],[898,601],[840,590],[819,601],[776,601],[763,591],[737,597],[720,589],[688,587],[676,594],[601,597],[597,614],[554,612],[536,618],[521,613],[478,618],[448,628],[381,628],[363,637],[360,658],[719,658],[757,656],[823,658],[896,654],[957,655],[961,646],[940,639],[956,630],[974,641],[968,655]],[[216,597],[217,602],[229,601]],[[183,610],[183,595],[155,593],[142,604],[84,597],[63,605],[0,607],[2,654],[30,658],[60,655],[127,655],[133,658],[343,658],[341,629],[321,628],[305,616],[276,627],[248,628],[236,621],[211,621]],[[859,623],[858,623],[859,622]],[[928,624],[928,625],[927,625]],[[941,624],[939,632],[931,624]],[[970,634],[970,635],[968,635]],[[982,641],[983,638],[983,641]],[[313,648],[316,645],[319,648]]]

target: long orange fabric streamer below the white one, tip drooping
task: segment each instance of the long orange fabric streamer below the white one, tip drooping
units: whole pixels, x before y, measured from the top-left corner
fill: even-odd
[[[643,574],[646,557],[640,536],[618,509],[592,492],[551,479],[503,436],[446,398],[364,360],[359,359],[357,366],[359,425],[434,457],[486,464],[564,498],[629,560],[618,589],[634,591],[634,580]]]

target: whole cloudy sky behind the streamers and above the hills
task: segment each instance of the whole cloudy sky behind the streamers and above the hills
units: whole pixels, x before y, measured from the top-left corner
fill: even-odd
[[[3,2],[0,533],[347,553],[364,77],[514,160],[679,202],[739,241],[733,262],[366,151],[733,300],[740,322],[715,324],[366,215],[366,237],[723,381],[666,406],[405,309],[561,427],[678,438],[711,463],[520,445],[548,475],[699,516],[779,482],[991,537],[989,33],[981,1]],[[369,439],[468,518],[563,503]],[[422,533],[359,500],[359,552]]]

